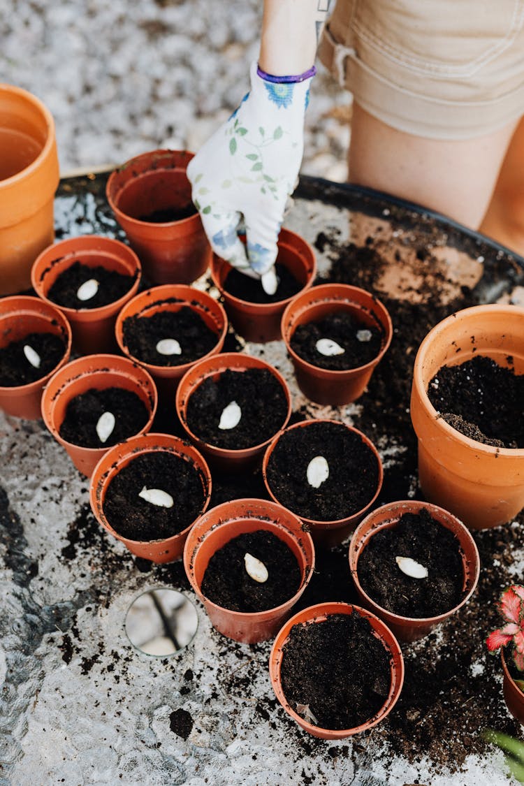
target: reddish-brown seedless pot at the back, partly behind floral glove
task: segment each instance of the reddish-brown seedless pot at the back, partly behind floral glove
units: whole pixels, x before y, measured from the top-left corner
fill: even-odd
[[[191,204],[185,171],[193,155],[187,150],[152,150],[127,161],[108,179],[108,203],[153,284],[191,284],[211,263],[198,212],[165,223],[141,220],[154,211]]]

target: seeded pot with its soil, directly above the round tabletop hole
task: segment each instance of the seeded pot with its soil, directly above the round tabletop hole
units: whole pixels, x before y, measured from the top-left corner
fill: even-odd
[[[131,553],[156,563],[180,559],[207,509],[211,473],[178,437],[142,434],[108,450],[91,478],[90,502],[103,527]]]

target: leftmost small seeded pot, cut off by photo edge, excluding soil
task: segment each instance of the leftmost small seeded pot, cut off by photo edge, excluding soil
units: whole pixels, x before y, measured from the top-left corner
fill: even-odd
[[[65,343],[60,362],[41,379],[16,387],[0,387],[0,407],[9,415],[35,421],[42,417],[42,388],[71,354],[71,327],[57,308],[37,297],[12,296],[0,299],[0,348],[20,341],[30,333],[52,333]]]

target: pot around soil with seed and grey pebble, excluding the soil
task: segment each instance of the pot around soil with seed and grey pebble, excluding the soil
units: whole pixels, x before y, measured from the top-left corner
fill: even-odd
[[[321,369],[296,354],[290,342],[299,325],[317,322],[328,314],[341,311],[383,333],[382,347],[376,358],[355,369],[331,371]],[[365,289],[345,284],[324,284],[306,289],[291,300],[282,317],[281,332],[302,393],[318,404],[341,406],[364,393],[376,365],[390,346],[393,325],[383,304]]]

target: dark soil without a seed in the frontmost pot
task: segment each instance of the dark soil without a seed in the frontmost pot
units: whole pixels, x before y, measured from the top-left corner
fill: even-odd
[[[280,675],[295,712],[305,704],[316,720],[310,721],[313,725],[354,729],[371,720],[387,700],[390,655],[367,619],[357,612],[334,614],[291,628]]]

